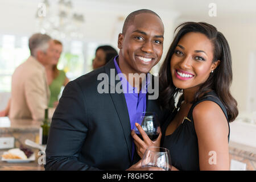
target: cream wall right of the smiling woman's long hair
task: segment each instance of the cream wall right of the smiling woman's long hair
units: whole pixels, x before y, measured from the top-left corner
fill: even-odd
[[[249,68],[252,66],[249,65],[250,53],[256,51],[256,24],[234,24],[233,26],[223,27],[222,30],[229,40],[232,51],[232,94],[238,101],[238,109],[241,112],[246,111],[249,89]],[[256,110],[256,108],[253,110]]]

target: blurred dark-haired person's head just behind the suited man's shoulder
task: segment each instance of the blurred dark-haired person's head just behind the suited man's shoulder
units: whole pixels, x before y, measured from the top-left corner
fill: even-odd
[[[118,55],[117,51],[111,46],[98,47],[95,52],[95,58],[93,59],[93,69],[103,67],[116,55]]]

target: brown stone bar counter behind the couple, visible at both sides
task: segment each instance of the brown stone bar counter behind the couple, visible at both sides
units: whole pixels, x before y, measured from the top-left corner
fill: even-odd
[[[31,119],[11,119],[6,117],[0,117],[0,137],[14,137],[15,144],[14,148],[19,148],[20,144],[24,144],[26,139],[30,139],[33,142],[40,143],[40,121],[32,121]],[[234,128],[232,128],[234,129]],[[232,131],[232,130],[231,130]],[[232,134],[232,133],[231,133]],[[0,160],[0,171],[10,170],[10,171],[41,171],[44,170],[44,165],[40,160],[40,155],[38,155],[39,150],[31,148],[35,152],[35,161],[30,163],[7,163]],[[0,149],[0,156],[4,151],[8,151],[9,148]],[[2,159],[2,157],[1,157]],[[41,159],[41,158],[40,158]],[[232,140],[229,142],[229,160],[236,160],[237,162],[245,163],[246,170],[255,171],[256,170],[256,148],[251,146],[246,146],[242,143],[236,143]],[[231,166],[230,166],[231,167]]]

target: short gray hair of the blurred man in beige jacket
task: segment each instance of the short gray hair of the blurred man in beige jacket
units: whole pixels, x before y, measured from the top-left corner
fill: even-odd
[[[52,38],[49,35],[46,34],[33,34],[30,39],[28,40],[28,47],[30,48],[30,54],[31,56],[36,57],[36,53],[40,50],[43,52],[47,51],[48,48],[48,42]]]

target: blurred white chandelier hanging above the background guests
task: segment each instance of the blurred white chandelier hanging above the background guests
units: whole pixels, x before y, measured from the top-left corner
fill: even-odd
[[[84,16],[73,12],[71,1],[60,0],[50,5],[47,0],[39,3],[36,11],[36,29],[55,39],[81,39]]]

